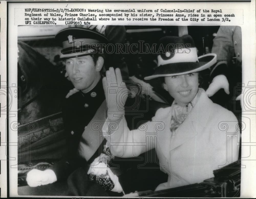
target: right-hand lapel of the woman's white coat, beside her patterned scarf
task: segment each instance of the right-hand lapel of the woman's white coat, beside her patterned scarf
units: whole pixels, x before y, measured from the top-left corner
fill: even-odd
[[[211,109],[212,103],[205,91],[202,91],[194,108],[190,111],[184,122],[176,129],[176,133],[173,134],[170,150],[179,147],[200,134],[205,124],[207,124]]]

